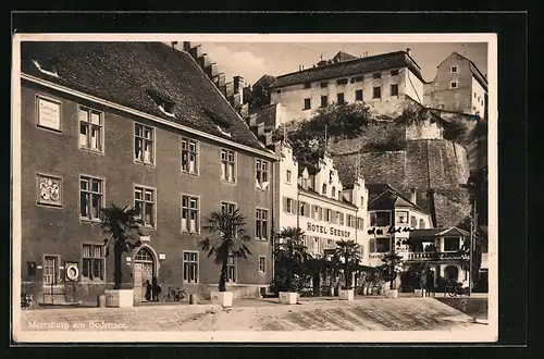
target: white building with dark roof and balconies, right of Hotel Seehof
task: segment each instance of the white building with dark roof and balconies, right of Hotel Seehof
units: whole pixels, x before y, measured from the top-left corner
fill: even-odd
[[[407,198],[387,184],[367,187],[369,265],[383,264],[382,259],[394,251],[401,257],[403,271],[425,262],[432,273],[429,285],[435,285],[440,276],[455,282],[468,281],[468,270],[462,265],[468,259],[462,251],[467,232],[457,227],[433,227],[431,215],[416,205],[417,189]]]

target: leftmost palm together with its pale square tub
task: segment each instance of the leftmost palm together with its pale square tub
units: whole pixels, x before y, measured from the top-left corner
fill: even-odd
[[[140,230],[139,213],[134,207],[119,207],[110,205],[100,209],[100,228],[108,235],[104,239],[106,257],[110,253],[110,248],[113,249],[113,289],[106,289],[106,306],[107,307],[133,307],[134,292],[133,289],[122,288],[123,268],[122,257],[127,252],[141,245],[139,240]]]

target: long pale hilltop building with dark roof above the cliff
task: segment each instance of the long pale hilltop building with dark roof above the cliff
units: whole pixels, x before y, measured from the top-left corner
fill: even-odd
[[[329,104],[372,104],[405,95],[423,103],[425,82],[410,49],[366,58],[342,54],[276,77],[269,89],[275,127],[308,120]]]

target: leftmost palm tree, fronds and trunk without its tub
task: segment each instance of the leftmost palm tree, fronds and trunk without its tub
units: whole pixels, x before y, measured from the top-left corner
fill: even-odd
[[[121,289],[121,283],[123,282],[121,267],[123,253],[141,245],[138,236],[141,221],[138,215],[138,210],[129,206],[122,208],[110,205],[106,208],[100,208],[100,228],[103,233],[108,234],[108,237],[104,239],[106,257],[110,252],[110,247],[113,247],[114,289]]]

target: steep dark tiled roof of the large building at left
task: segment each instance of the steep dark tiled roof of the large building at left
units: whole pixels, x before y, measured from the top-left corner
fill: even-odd
[[[22,72],[256,149],[248,125],[186,52],[161,42],[22,42]],[[57,60],[58,77],[33,61]],[[169,116],[150,95],[174,102]],[[230,127],[231,136],[218,125]]]

